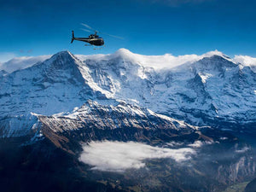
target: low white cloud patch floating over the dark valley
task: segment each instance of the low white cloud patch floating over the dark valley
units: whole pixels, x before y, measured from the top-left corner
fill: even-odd
[[[79,160],[92,169],[108,172],[124,172],[125,169],[139,169],[145,166],[143,160],[171,158],[177,162],[189,160],[195,154],[193,148],[158,148],[134,142],[91,142],[84,145]]]

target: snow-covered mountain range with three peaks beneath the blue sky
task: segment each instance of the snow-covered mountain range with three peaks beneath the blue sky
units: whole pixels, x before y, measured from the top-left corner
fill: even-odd
[[[43,117],[81,119],[84,113],[91,114],[91,108],[105,108],[107,113],[118,110],[130,117],[136,113],[134,120],[150,119],[154,114],[169,123],[179,122],[173,123],[174,130],[183,121],[194,125],[193,129],[215,121],[252,124],[256,122],[252,68],[218,51],[182,57],[137,55],[127,49],[112,55],[62,51],[31,67],[1,71],[1,135],[26,135],[37,130]],[[88,102],[94,104],[84,109]],[[100,115],[92,114],[84,117],[100,121]],[[117,119],[110,125],[119,127]],[[146,127],[142,121],[136,124]],[[106,122],[99,125],[104,126]]]

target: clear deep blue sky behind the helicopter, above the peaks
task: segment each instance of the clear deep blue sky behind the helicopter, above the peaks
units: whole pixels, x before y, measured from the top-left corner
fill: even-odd
[[[256,56],[256,2],[252,0],[42,0],[0,2],[0,61],[13,55],[108,54],[119,48],[144,55]],[[70,44],[86,23],[102,32],[106,47]]]

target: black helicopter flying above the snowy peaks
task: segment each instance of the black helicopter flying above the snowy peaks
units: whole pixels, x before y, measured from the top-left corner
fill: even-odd
[[[104,45],[104,40],[103,38],[99,37],[97,35],[97,33],[102,33],[102,34],[106,34],[110,37],[113,37],[113,38],[120,38],[118,36],[114,36],[114,35],[110,35],[108,33],[105,33],[105,32],[99,32],[95,29],[93,29],[92,27],[84,24],[84,23],[81,23],[82,26],[85,26],[86,28],[88,29],[81,29],[81,30],[84,30],[85,32],[92,32],[94,31],[95,33],[94,34],[90,34],[88,38],[75,38],[74,37],[74,32],[72,31],[72,39],[71,39],[71,44],[73,43],[73,40],[77,40],[77,41],[83,41],[85,43],[88,43],[88,44],[85,44],[85,46],[102,46]],[[95,49],[95,48],[94,48]]]

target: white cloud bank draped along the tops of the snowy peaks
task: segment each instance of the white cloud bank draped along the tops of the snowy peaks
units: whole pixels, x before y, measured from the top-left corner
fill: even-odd
[[[5,58],[6,55],[12,57],[14,55],[11,54],[4,54]],[[95,60],[95,61],[102,61],[102,60],[110,60],[121,56],[124,60],[133,61],[143,67],[153,67],[155,70],[161,69],[172,69],[174,67],[178,67],[185,63],[192,63],[195,61],[199,61],[204,57],[211,57],[212,55],[220,55],[224,56],[225,59],[229,61],[233,61],[235,63],[241,63],[242,66],[249,66],[256,72],[256,58],[247,55],[236,55],[234,58],[227,58],[222,52],[218,50],[207,52],[203,55],[172,55],[172,54],[165,54],[165,55],[139,55],[136,53],[132,53],[128,49],[119,49],[113,54],[103,55],[75,55],[81,61],[85,61],[87,59]],[[41,56],[30,56],[30,57],[15,57],[10,61],[0,63],[0,70],[5,70],[8,73],[12,73],[15,70],[23,69],[26,67],[31,67],[38,61],[44,61],[48,59],[50,55],[41,55]],[[3,59],[3,58],[2,58]],[[0,53],[0,62],[1,62],[1,53]]]

